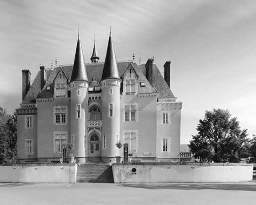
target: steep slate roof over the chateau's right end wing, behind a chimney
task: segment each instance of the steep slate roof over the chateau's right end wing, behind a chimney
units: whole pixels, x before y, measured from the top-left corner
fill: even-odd
[[[139,65],[139,68],[142,70],[143,74],[146,76],[146,63]],[[174,98],[174,94],[169,88],[167,82],[165,81],[163,75],[159,71],[156,64],[153,63],[153,86],[159,93],[159,98]]]

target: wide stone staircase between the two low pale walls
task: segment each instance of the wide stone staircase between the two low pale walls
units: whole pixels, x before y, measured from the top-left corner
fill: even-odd
[[[103,162],[88,162],[77,166],[76,182],[113,183],[112,166]]]

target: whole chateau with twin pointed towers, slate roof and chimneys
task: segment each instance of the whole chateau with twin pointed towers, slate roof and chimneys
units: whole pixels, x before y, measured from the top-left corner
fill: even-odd
[[[109,162],[129,144],[133,160],[177,161],[182,102],[170,89],[170,61],[164,77],[154,63],[116,61],[109,35],[104,62],[95,41],[85,63],[78,36],[73,65],[40,66],[33,83],[22,70],[22,103],[17,109],[17,161],[52,162],[69,144],[79,163]]]

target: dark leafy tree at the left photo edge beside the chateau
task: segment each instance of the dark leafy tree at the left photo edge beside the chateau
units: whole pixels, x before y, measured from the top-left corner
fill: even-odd
[[[6,110],[0,107],[0,163],[12,162],[16,141],[16,113],[7,114]]]

